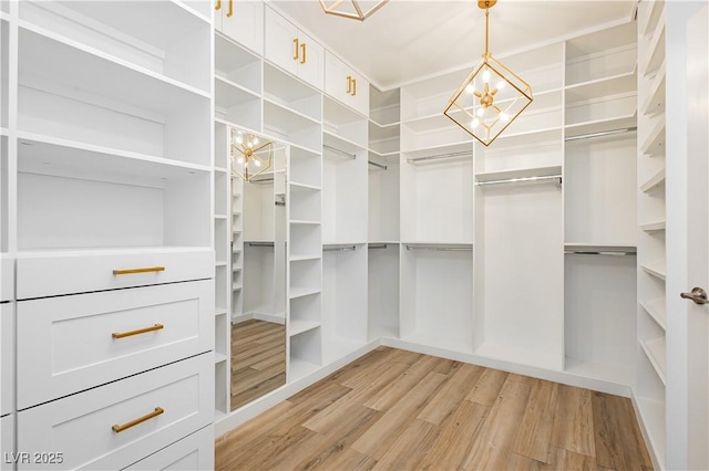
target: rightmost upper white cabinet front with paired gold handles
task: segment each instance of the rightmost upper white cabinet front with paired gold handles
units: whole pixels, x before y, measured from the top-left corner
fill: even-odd
[[[325,57],[325,93],[369,116],[369,82],[329,51]]]

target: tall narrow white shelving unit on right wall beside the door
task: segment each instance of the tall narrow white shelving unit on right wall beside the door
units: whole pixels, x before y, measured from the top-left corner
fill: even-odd
[[[666,202],[665,2],[638,4],[638,269],[635,396],[650,448],[665,463]]]

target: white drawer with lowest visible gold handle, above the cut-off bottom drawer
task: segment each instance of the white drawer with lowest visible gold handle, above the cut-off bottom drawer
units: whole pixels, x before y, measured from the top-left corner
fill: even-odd
[[[121,432],[114,426],[148,418]],[[18,414],[18,449],[61,452],[42,469],[122,469],[212,423],[210,353]],[[37,464],[18,469],[37,469]]]

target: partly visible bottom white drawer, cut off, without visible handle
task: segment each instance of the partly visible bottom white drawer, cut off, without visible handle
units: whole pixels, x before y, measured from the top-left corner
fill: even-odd
[[[132,464],[126,470],[213,470],[214,427],[205,427],[177,443]]]

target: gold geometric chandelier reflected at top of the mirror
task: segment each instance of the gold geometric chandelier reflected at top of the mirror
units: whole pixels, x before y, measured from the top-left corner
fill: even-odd
[[[274,143],[261,143],[258,136],[232,128],[232,172],[244,181],[270,168],[274,161]]]

